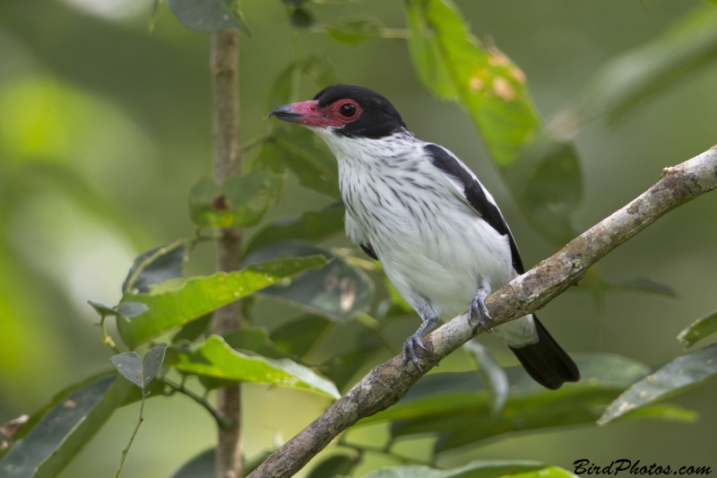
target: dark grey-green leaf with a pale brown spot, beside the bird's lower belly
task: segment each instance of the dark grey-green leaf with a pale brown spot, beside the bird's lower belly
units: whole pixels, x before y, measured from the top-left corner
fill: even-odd
[[[308,271],[297,279],[281,282],[261,291],[264,296],[288,300],[312,313],[347,320],[366,310],[374,297],[374,282],[368,275],[343,258],[307,241],[286,240],[256,249],[244,263],[254,264],[281,256],[321,254],[329,261],[323,269]]]

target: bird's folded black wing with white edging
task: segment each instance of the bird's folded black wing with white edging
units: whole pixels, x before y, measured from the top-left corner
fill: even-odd
[[[525,273],[521,253],[518,251],[518,245],[515,244],[515,239],[513,239],[513,234],[511,234],[503,214],[500,213],[496,204],[488,200],[485,189],[473,176],[471,169],[468,169],[461,161],[456,160],[453,155],[437,144],[427,144],[424,149],[436,168],[462,185],[463,196],[478,211],[483,220],[500,234],[508,236],[513,267],[518,274]]]

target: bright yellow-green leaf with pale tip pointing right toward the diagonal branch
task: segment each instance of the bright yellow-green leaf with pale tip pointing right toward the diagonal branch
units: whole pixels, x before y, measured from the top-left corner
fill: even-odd
[[[311,369],[289,359],[272,360],[237,352],[219,335],[212,335],[201,344],[173,345],[168,349],[166,363],[181,372],[205,377],[295,387],[333,398],[341,396],[333,383]]]

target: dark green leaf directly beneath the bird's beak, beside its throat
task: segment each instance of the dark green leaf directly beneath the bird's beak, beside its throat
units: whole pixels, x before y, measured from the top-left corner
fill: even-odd
[[[318,143],[315,135],[305,127],[275,126],[254,165],[266,166],[274,172],[289,168],[301,186],[341,199],[338,164],[326,146]]]

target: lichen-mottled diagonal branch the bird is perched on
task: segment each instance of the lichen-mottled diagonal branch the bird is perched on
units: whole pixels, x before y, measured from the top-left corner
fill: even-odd
[[[642,196],[570,241],[486,300],[494,326],[523,317],[579,282],[588,268],[663,214],[717,187],[717,146],[666,168]],[[288,478],[300,470],[341,431],[398,402],[416,381],[472,335],[465,314],[423,339],[418,350],[423,371],[394,357],[368,372],[346,395],[270,456],[248,478]],[[480,332],[480,331],[479,331]]]

